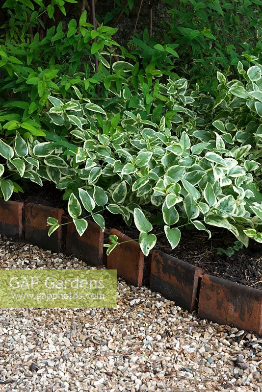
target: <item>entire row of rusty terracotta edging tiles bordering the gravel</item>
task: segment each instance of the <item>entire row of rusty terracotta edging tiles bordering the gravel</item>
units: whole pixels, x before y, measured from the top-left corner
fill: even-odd
[[[34,203],[24,206],[23,202],[0,200],[0,234],[23,240],[24,223],[27,242],[57,252],[61,250],[62,230],[60,227],[49,238],[46,219],[53,216],[61,223],[63,214],[64,211],[59,208]],[[117,269],[118,276],[128,283],[138,287],[150,285],[152,291],[174,300],[177,306],[189,312],[196,309],[199,301],[197,317],[200,319],[233,325],[262,335],[262,290],[203,274],[200,268],[158,250],[145,258],[139,244],[130,241],[131,238],[116,229],[105,232],[105,238],[108,234],[115,234],[120,243],[129,242],[118,245],[105,257],[104,233],[96,223],[89,222],[91,231],[79,239],[73,233],[74,228],[68,230],[68,225],[65,227],[67,254],[73,250],[76,257],[82,257],[83,261],[97,267],[107,261],[107,269]],[[75,240],[77,243],[69,244],[69,241]],[[79,246],[82,246],[82,250]],[[147,268],[145,261],[149,263]]]

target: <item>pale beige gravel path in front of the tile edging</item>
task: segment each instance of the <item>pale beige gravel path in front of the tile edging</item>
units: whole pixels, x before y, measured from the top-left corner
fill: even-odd
[[[2,269],[88,269],[0,239]],[[262,338],[119,281],[118,309],[0,309],[0,391],[262,391]]]

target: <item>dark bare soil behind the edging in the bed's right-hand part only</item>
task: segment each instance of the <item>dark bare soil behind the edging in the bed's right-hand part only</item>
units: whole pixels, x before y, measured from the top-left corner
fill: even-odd
[[[117,228],[130,238],[139,238],[136,227],[126,226],[117,216],[108,216],[106,223],[107,228]],[[155,229],[155,234],[162,230]],[[248,248],[243,247],[228,257],[217,254],[217,248],[227,249],[236,241],[228,231],[213,231],[210,239],[206,233],[198,230],[182,230],[181,233],[181,241],[173,250],[164,234],[157,235],[155,249],[200,267],[211,275],[262,289],[262,244],[251,240]]]

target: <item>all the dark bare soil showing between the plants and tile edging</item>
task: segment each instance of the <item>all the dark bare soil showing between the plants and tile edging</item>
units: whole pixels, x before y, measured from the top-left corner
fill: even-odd
[[[61,192],[52,184],[44,187],[32,185],[23,194],[13,194],[12,200],[27,203],[44,204],[50,207],[59,207],[66,210],[67,201],[61,200]],[[132,239],[139,238],[139,231],[134,225],[127,226],[117,215],[105,211],[105,226],[107,230],[117,228],[123,234]],[[249,240],[249,247],[235,251],[229,257],[226,254],[219,255],[217,248],[224,250],[234,246],[236,238],[227,230],[215,230],[212,237],[198,230],[181,230],[182,236],[179,245],[171,249],[165,235],[160,234],[162,228],[157,227],[154,233],[157,235],[155,249],[174,256],[180,260],[201,268],[205,273],[240,283],[248,287],[262,289],[262,245]]]

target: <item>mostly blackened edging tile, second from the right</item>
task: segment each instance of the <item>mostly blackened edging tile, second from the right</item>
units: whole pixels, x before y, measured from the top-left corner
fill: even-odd
[[[152,252],[150,289],[192,312],[203,271],[164,252]]]

